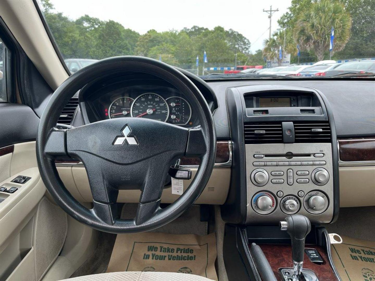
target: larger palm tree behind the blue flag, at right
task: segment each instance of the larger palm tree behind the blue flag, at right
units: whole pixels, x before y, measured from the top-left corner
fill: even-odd
[[[338,1],[321,0],[297,15],[293,33],[302,49],[314,51],[318,61],[329,50],[331,28],[335,29],[333,51],[341,51],[350,38],[352,19]]]

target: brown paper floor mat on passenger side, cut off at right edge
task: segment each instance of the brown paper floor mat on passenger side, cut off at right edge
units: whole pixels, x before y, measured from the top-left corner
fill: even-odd
[[[341,279],[375,281],[375,242],[341,237],[342,244],[331,245],[333,263]]]

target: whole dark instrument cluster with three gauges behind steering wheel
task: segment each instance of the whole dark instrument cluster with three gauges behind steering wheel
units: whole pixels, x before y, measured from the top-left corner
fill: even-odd
[[[111,89],[93,100],[99,118],[148,118],[178,126],[196,126],[198,120],[180,91],[165,86],[132,85]]]

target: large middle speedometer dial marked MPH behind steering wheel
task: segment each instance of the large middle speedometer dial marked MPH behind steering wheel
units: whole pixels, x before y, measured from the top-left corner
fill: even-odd
[[[130,113],[132,117],[165,122],[168,119],[169,107],[162,96],[155,93],[145,93],[134,100]]]

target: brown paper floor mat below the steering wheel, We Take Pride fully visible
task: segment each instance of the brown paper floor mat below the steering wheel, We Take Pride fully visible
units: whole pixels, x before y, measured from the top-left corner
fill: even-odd
[[[193,234],[118,234],[107,272],[182,272],[217,280],[216,236]]]

